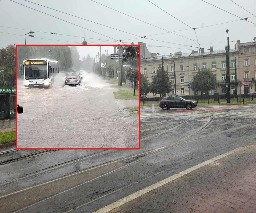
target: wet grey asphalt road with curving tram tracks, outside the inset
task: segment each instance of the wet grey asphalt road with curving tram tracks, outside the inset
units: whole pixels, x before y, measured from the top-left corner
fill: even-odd
[[[255,105],[206,106],[192,111],[141,107],[141,150],[18,150],[0,154],[0,159],[19,157],[0,163],[0,209],[96,211],[255,141],[255,109]],[[33,153],[37,154],[28,156]]]

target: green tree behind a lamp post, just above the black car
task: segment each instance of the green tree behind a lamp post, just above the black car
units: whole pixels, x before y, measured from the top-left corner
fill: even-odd
[[[152,77],[152,81],[150,83],[150,92],[158,94],[160,93],[162,97],[164,97],[165,93],[169,93],[171,91],[171,87],[172,83],[170,82],[170,77],[165,70],[163,82],[162,67],[159,66],[156,70],[156,75]]]

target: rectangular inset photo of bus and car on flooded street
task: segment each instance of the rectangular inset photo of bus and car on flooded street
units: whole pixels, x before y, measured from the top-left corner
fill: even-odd
[[[16,45],[17,149],[140,149],[139,45]]]

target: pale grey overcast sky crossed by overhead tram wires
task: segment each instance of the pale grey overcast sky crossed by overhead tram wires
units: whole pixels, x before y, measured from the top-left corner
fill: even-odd
[[[226,29],[229,29],[229,41],[231,41],[231,48],[234,48],[234,45],[237,40],[241,41],[252,41],[256,37],[256,4],[255,0],[232,0],[238,5],[242,6],[249,12],[243,10],[241,7],[237,6],[230,0],[205,0],[215,6],[218,6],[228,12],[231,12],[241,18],[249,18],[248,21],[240,20],[239,17],[236,17],[232,14],[229,14],[225,11],[222,11],[212,5],[209,5],[201,0],[150,0],[152,3],[156,4],[161,9],[165,10],[169,14],[173,15],[182,22],[176,20],[169,14],[160,10],[155,5],[151,4],[147,0],[141,1],[123,1],[123,0],[93,0],[104,4],[108,7],[111,7],[117,11],[126,13],[130,16],[133,16],[137,19],[150,23],[143,23],[139,20],[135,20],[131,17],[128,17],[124,14],[113,11],[107,7],[99,5],[91,0],[81,1],[81,0],[30,0],[31,2],[38,3],[47,7],[54,8],[56,10],[69,13],[75,16],[82,17],[83,19],[88,19],[93,22],[97,22],[103,25],[107,25],[115,29],[110,29],[105,26],[101,26],[96,23],[92,23],[86,20],[79,19],[77,17],[72,17],[61,12],[45,8],[28,1],[24,0],[13,0],[20,4],[35,8],[41,12],[48,13],[50,15],[56,16],[60,19],[66,20],[68,22],[74,23],[76,25],[82,26],[83,29],[79,26],[58,20],[49,15],[40,13],[38,11],[32,10],[28,7],[24,7],[17,3],[14,3],[10,0],[0,1],[0,48],[6,47],[9,44],[24,44],[24,34],[28,33],[30,30],[35,31],[33,35],[35,37],[26,38],[27,44],[81,44],[83,41],[83,35],[85,34],[85,39],[88,44],[121,44],[116,40],[124,40],[123,42],[134,42],[137,44],[139,41],[146,42],[148,45],[149,51],[159,52],[160,54],[170,54],[177,51],[182,52],[191,52],[192,49],[198,49],[199,45],[196,43],[197,38],[195,32],[191,28],[198,28],[195,31],[197,32],[198,41],[201,47],[208,48],[210,46],[214,47],[214,50],[225,49],[227,33]],[[239,21],[235,21],[239,20]],[[230,22],[234,21],[234,22]],[[224,22],[230,22],[215,26],[209,26]],[[187,26],[188,25],[188,26]],[[21,28],[11,29],[5,28]],[[162,29],[159,29],[162,28]],[[206,27],[209,26],[209,27]],[[190,28],[191,27],[191,28]],[[188,30],[185,30],[188,29]],[[92,32],[92,31],[95,32]],[[183,31],[177,31],[183,30]],[[36,32],[41,31],[41,32]],[[168,31],[177,31],[175,32],[178,35],[169,33]],[[3,33],[4,32],[4,33]],[[44,33],[48,32],[48,33]],[[57,33],[49,34],[49,32]],[[97,32],[97,33],[96,33]],[[166,33],[167,32],[167,33]],[[11,34],[5,34],[11,33]],[[100,33],[100,34],[98,34]],[[131,34],[129,34],[131,33]],[[164,34],[159,34],[164,33]],[[12,35],[17,34],[17,35]],[[59,35],[65,34],[69,36]],[[102,34],[102,35],[101,35]],[[134,34],[134,35],[132,35]],[[150,36],[153,34],[158,34]],[[180,36],[179,36],[180,35]],[[75,36],[75,37],[73,37]],[[78,37],[76,37],[78,36]],[[145,38],[140,38],[146,36]],[[183,37],[182,37],[183,36]],[[81,38],[79,38],[81,37]],[[109,38],[110,37],[110,38]],[[186,37],[186,38],[184,38]],[[44,39],[42,39],[44,38]],[[55,39],[61,41],[47,40]],[[101,39],[101,40],[100,40]],[[155,40],[160,41],[155,41]],[[192,40],[195,41],[192,41]],[[108,41],[103,41],[108,40]],[[115,40],[115,41],[114,41]],[[164,41],[164,42],[162,42]],[[234,41],[234,42],[232,42]],[[167,43],[172,42],[172,43]],[[221,43],[218,43],[221,42]],[[204,43],[204,44],[203,44]],[[214,44],[212,44],[214,43]],[[149,46],[152,45],[152,46]],[[192,47],[181,46],[181,45],[192,45]],[[165,47],[153,47],[153,46],[165,46]],[[166,47],[169,46],[169,47]],[[181,49],[179,49],[181,48]],[[91,57],[95,57],[98,53],[97,48],[88,48],[90,49],[89,54]],[[105,48],[106,49],[106,48]],[[113,52],[113,47],[109,47],[109,52]],[[209,50],[206,50],[209,51]],[[87,51],[82,51],[79,48],[81,57],[88,54]]]

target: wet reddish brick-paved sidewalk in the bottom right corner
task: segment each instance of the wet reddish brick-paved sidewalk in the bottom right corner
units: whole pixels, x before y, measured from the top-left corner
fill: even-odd
[[[256,213],[256,143],[110,212]]]

